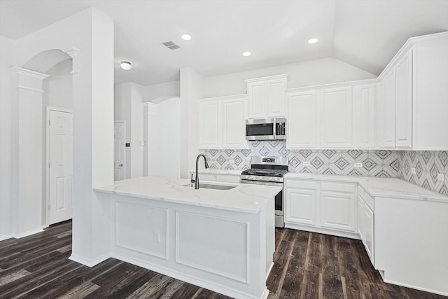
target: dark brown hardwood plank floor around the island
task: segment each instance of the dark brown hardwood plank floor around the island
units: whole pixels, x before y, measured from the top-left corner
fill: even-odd
[[[358,240],[277,229],[269,298],[447,298],[385,284]],[[0,242],[0,298],[224,299],[192,284],[109,258],[69,260],[71,221]]]

